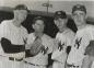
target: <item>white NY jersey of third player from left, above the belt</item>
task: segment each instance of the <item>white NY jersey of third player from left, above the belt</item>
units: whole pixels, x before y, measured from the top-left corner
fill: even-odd
[[[66,63],[67,46],[72,46],[73,39],[74,39],[74,33],[70,29],[64,30],[62,33],[57,33],[56,41],[57,43],[60,42],[60,44],[63,45],[63,48],[59,50],[58,46],[56,46],[56,49],[52,53],[51,59]]]

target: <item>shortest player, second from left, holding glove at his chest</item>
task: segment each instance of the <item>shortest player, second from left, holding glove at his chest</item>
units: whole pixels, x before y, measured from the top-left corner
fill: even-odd
[[[45,19],[36,16],[33,20],[34,33],[27,37],[26,49],[30,49],[31,57],[26,57],[25,68],[47,68],[48,54],[52,52],[54,39],[44,33]]]

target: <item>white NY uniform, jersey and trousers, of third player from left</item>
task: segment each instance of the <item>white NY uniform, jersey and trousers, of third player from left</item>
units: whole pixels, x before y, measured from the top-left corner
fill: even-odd
[[[72,46],[72,41],[74,38],[74,33],[67,29],[62,33],[57,33],[56,41],[61,42],[63,46],[62,49],[57,49],[52,53],[51,59],[54,59],[52,68],[64,68],[67,60],[67,46]]]

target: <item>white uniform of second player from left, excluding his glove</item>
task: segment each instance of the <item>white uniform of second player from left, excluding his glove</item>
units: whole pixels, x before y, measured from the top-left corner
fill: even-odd
[[[36,36],[35,33],[31,33],[27,38],[27,44],[32,44],[35,41]],[[52,53],[52,46],[54,46],[54,39],[49,37],[48,35],[44,34],[42,36],[42,44],[45,46],[45,48],[48,47],[48,50],[46,54],[43,54],[39,52],[37,55],[33,57],[27,57],[24,60],[27,61],[25,64],[25,68],[46,68],[48,65],[48,54]],[[26,46],[26,49],[30,49],[32,45]]]

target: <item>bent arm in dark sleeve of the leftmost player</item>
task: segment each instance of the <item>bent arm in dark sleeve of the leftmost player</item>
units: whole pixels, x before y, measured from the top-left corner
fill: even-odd
[[[4,50],[4,53],[12,54],[12,53],[20,53],[25,50],[24,45],[14,45],[11,44],[11,42],[8,38],[2,37],[1,38],[1,46]]]

